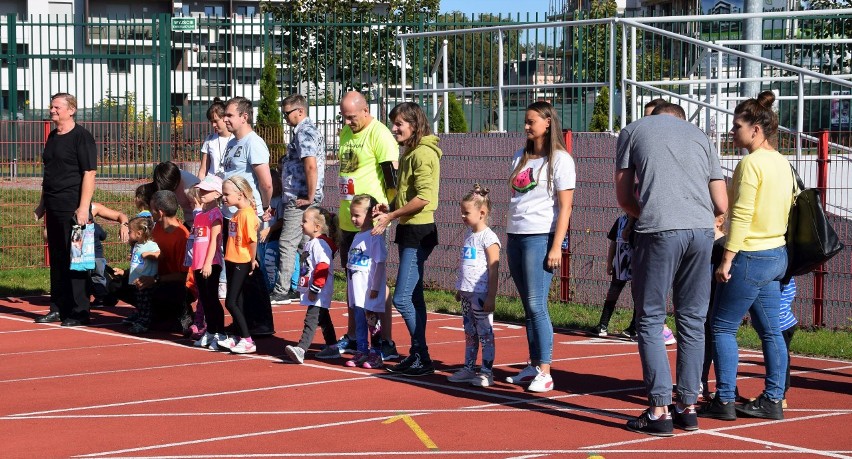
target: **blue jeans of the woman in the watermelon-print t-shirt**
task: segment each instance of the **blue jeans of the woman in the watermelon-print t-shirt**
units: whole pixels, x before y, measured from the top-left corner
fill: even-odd
[[[549,364],[553,356],[553,324],[547,309],[553,271],[545,267],[552,243],[552,234],[509,234],[506,241],[509,274],[524,305],[533,365]]]

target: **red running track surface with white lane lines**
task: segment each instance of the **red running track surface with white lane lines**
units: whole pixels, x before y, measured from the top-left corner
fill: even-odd
[[[557,333],[556,390],[534,395],[501,382],[526,362],[517,325],[495,324],[496,385],[480,389],[446,380],[464,349],[455,316],[429,316],[441,371],[407,379],[343,359],[283,362],[301,332],[298,305],[275,307],[276,335],[237,356],[126,334],[126,306],[96,310],[89,327],[34,324],[45,299],[28,300],[0,300],[4,458],[852,457],[848,361],[793,357],[784,421],[702,419],[697,432],[657,438],[623,428],[645,404],[635,343]],[[332,309],[338,332],[344,312]],[[398,317],[394,329],[405,352]],[[740,392],[756,396],[762,374],[759,353],[741,352]],[[400,414],[410,418],[387,422]]]

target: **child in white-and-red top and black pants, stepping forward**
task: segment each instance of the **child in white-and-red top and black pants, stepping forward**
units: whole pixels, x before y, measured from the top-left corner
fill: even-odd
[[[305,311],[305,328],[296,346],[286,346],[284,351],[295,363],[304,363],[305,352],[314,340],[317,326],[322,328],[326,347],[317,353],[320,359],[339,358],[337,335],[328,313],[334,292],[332,260],[337,251],[337,217],[325,209],[309,207],[302,215],[302,233],[309,238],[299,254],[299,292]]]

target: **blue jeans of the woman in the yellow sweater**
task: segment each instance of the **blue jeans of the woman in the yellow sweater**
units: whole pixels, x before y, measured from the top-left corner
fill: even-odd
[[[716,286],[713,315],[713,340],[716,358],[717,397],[723,402],[734,400],[737,386],[737,330],[746,312],[763,345],[766,364],[764,392],[772,400],[784,398],[784,375],[787,371],[787,346],[779,329],[781,285],[778,281],[787,270],[787,248],[784,246],[740,251],[731,264],[731,278]]]

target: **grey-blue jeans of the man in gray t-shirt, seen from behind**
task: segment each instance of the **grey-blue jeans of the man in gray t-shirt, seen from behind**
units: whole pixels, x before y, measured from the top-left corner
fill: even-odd
[[[633,247],[633,303],[639,359],[651,406],[672,402],[672,374],[663,341],[666,298],[672,291],[677,325],[677,393],[698,400],[704,362],[704,321],[710,303],[711,228],[636,233]]]

